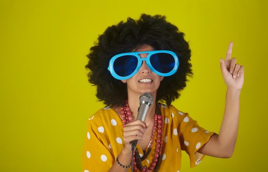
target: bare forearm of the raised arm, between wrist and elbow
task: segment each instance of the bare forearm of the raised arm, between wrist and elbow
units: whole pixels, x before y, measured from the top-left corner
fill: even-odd
[[[241,90],[228,88],[224,115],[219,131],[218,144],[222,153],[230,157],[235,149],[238,126],[239,126],[239,104]]]

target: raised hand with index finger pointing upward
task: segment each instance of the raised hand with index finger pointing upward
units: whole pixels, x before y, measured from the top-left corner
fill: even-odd
[[[232,58],[233,42],[230,42],[225,60],[220,58],[221,74],[228,88],[241,90],[244,83],[244,67],[236,63],[237,59]]]

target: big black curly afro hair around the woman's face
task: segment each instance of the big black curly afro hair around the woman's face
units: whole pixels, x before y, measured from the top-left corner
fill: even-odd
[[[184,33],[167,22],[165,16],[141,14],[139,20],[128,17],[108,27],[98,37],[87,55],[88,82],[97,86],[97,98],[109,106],[123,106],[128,99],[127,84],[113,78],[107,70],[109,60],[116,54],[132,52],[136,47],[147,44],[155,50],[170,50],[179,57],[177,72],[164,77],[157,90],[156,101],[170,105],[180,96],[186,86],[187,76],[192,77],[191,50]]]

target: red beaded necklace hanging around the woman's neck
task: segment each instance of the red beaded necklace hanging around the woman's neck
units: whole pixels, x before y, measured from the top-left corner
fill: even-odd
[[[126,124],[133,119],[132,112],[130,110],[128,101],[126,101],[126,106],[121,107],[121,117],[122,117],[122,122],[123,122],[123,127],[126,126]],[[154,138],[157,133],[157,138],[156,138],[156,152],[155,152],[155,158],[153,162],[150,164],[149,167],[147,166],[142,166],[141,161],[143,161],[150,153],[151,148],[154,143]],[[153,133],[152,137],[149,143],[149,149],[147,153],[145,153],[144,157],[140,158],[139,153],[137,148],[134,151],[134,172],[137,172],[137,169],[139,169],[142,172],[150,172],[153,169],[154,172],[157,172],[160,168],[161,165],[161,152],[162,152],[162,133],[163,133],[163,118],[162,115],[155,115],[155,120],[154,120],[154,128],[153,128]]]

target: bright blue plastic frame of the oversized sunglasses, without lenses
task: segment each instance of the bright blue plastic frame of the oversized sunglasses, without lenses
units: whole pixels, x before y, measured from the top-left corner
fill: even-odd
[[[174,68],[168,72],[168,73],[161,73],[161,72],[158,72],[157,70],[155,70],[153,68],[153,66],[151,65],[151,62],[150,62],[150,57],[154,54],[157,54],[157,53],[167,53],[167,54],[170,54],[172,55],[172,57],[174,58]],[[139,54],[148,54],[147,57],[145,58],[141,58],[139,56]],[[134,70],[134,72],[132,74],[130,74],[129,76],[126,76],[126,77],[121,77],[119,75],[117,75],[113,69],[113,63],[114,61],[116,60],[116,58],[119,58],[119,57],[122,57],[122,56],[135,56],[137,57],[138,59],[138,63],[137,63],[137,67],[136,69]],[[157,75],[160,75],[160,76],[163,76],[163,77],[166,77],[166,76],[170,76],[170,75],[173,75],[179,68],[179,58],[178,56],[172,52],[172,51],[168,51],[168,50],[155,50],[155,51],[144,51],[144,52],[131,52],[131,53],[121,53],[121,54],[118,54],[118,55],[115,55],[113,56],[110,61],[109,61],[109,66],[108,66],[108,71],[110,71],[111,75],[115,78],[115,79],[118,79],[118,80],[127,80],[131,77],[133,77],[137,72],[138,70],[140,69],[141,65],[142,65],[142,61],[145,60],[146,61],[146,64],[147,66],[150,68],[150,70],[152,72],[154,72],[155,74]]]

